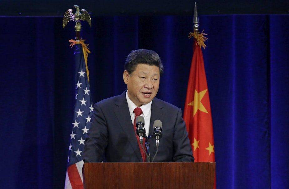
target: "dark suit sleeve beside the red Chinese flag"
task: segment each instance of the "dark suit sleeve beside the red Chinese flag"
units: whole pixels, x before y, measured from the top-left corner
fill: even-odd
[[[179,109],[174,128],[174,156],[175,162],[194,162],[192,147],[188,137],[185,121],[182,118],[182,111]]]

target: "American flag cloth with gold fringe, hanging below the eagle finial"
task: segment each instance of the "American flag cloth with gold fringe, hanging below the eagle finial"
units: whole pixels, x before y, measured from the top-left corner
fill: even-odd
[[[65,189],[83,188],[82,178],[82,152],[86,134],[90,127],[90,119],[92,115],[92,102],[90,96],[90,86],[88,78],[88,69],[86,67],[84,56],[90,53],[84,41],[70,41],[74,44],[75,55],[75,107],[72,122],[72,132],[70,134],[68,165],[65,179]],[[84,48],[84,51],[83,51]],[[86,50],[86,52],[85,52]],[[87,60],[87,57],[86,57]]]

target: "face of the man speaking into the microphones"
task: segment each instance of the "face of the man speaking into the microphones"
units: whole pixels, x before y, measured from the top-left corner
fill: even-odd
[[[129,99],[137,106],[148,104],[155,98],[160,85],[160,69],[157,66],[138,64],[133,73],[124,70]]]

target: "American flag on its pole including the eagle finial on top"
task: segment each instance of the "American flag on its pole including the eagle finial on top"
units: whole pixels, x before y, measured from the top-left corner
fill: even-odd
[[[89,13],[85,9],[79,11],[79,7],[74,5],[76,12],[72,13],[72,9],[68,9],[63,16],[63,28],[69,21],[75,21],[74,30],[76,37],[70,39],[70,46],[74,46],[75,61],[75,104],[73,127],[70,134],[67,171],[65,178],[65,189],[83,188],[82,167],[84,161],[82,152],[84,149],[85,138],[90,128],[90,120],[92,117],[93,103],[90,95],[89,70],[87,66],[88,54],[90,53],[88,44],[84,43],[84,39],[80,37],[81,23],[87,21],[91,27],[91,19]]]

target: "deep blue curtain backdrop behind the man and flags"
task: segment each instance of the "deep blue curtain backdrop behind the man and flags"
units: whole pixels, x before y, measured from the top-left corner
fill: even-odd
[[[216,184],[289,188],[289,15],[200,16],[212,109]],[[122,93],[124,60],[152,49],[165,74],[158,98],[184,109],[192,16],[92,17],[93,102]],[[74,23],[1,17],[1,188],[63,188],[74,105]],[[101,173],[100,173],[101,174]],[[174,173],[171,173],[174,174]],[[192,178],[194,179],[194,178]]]

